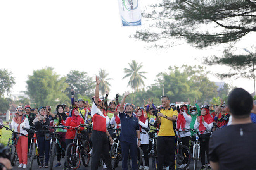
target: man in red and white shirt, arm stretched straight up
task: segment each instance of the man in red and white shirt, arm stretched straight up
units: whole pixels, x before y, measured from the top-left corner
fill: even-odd
[[[104,108],[104,97],[99,96],[99,84],[100,80],[96,76],[95,96],[92,98],[93,103],[91,108],[93,122],[93,131],[91,137],[93,143],[91,169],[98,169],[100,157],[102,155],[106,163],[107,170],[112,170],[108,141],[110,141],[110,144],[112,144],[113,139],[107,131],[106,117],[101,111]]]

